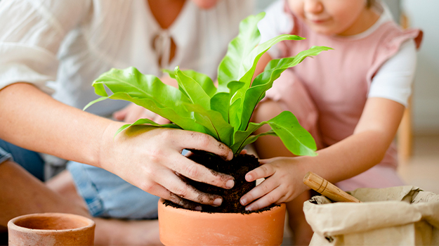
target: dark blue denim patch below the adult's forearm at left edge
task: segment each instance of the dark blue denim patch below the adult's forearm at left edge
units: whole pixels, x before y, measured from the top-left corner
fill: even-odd
[[[0,162],[4,161],[2,160],[2,156],[5,158],[5,155],[2,153],[8,153],[13,157],[14,162],[20,164],[20,166],[37,177],[37,179],[44,181],[44,160],[39,153],[20,148],[17,145],[0,139]]]

